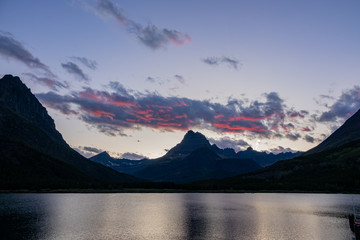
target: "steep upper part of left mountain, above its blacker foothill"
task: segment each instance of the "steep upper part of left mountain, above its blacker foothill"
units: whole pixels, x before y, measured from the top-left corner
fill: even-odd
[[[11,75],[6,75],[0,80],[0,140],[4,143],[2,150],[6,150],[4,147],[6,142],[12,145],[18,144],[19,151],[25,146],[31,149],[33,154],[36,152],[43,154],[39,158],[49,156],[51,159],[71,165],[89,178],[105,182],[137,180],[91,162],[71,149],[55,129],[54,121],[47,114],[46,109],[18,77]],[[5,156],[1,156],[0,159],[3,163],[12,162],[12,159],[5,159]]]

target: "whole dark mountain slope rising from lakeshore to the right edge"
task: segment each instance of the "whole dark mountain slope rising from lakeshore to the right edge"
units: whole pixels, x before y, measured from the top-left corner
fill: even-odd
[[[360,191],[359,112],[319,146],[256,172],[189,185],[196,189],[246,191]],[[348,135],[347,135],[348,134]]]

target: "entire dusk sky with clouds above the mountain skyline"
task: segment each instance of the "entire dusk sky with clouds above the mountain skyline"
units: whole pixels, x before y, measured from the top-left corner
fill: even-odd
[[[71,147],[306,151],[360,108],[360,1],[1,0],[0,77]]]

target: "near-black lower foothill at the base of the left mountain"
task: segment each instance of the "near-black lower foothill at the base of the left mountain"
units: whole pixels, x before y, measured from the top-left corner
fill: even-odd
[[[0,189],[94,188],[101,182],[18,142],[0,140]]]

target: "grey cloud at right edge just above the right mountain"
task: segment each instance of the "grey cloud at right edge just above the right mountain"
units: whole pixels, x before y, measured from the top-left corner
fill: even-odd
[[[329,110],[323,112],[318,120],[320,122],[334,122],[337,118],[347,119],[360,108],[360,86],[344,91],[341,96],[328,106]]]

